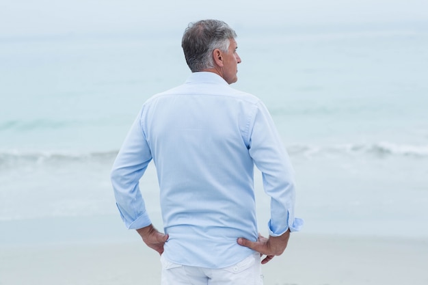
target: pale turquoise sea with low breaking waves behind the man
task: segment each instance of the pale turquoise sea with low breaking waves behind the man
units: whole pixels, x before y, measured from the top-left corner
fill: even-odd
[[[276,123],[302,232],[428,239],[428,24],[235,29],[232,87]],[[0,243],[137,239],[109,172],[144,101],[189,76],[182,33],[0,37]],[[152,163],[141,187],[161,229]]]

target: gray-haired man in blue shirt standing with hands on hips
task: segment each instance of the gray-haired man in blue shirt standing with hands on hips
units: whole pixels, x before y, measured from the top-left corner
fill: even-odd
[[[284,252],[294,217],[293,169],[265,105],[232,89],[237,37],[226,23],[190,24],[183,51],[189,79],[144,103],[111,173],[128,228],[161,254],[161,284],[263,284],[266,263]],[[153,159],[165,234],[146,213],[139,179]],[[271,196],[269,239],[258,235],[254,164]]]

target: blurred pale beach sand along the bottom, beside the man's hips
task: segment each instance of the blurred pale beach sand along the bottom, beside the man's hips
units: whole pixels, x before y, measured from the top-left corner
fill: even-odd
[[[427,260],[427,240],[297,233],[263,275],[265,285],[426,285]],[[1,285],[160,284],[160,268],[139,241],[0,247]]]

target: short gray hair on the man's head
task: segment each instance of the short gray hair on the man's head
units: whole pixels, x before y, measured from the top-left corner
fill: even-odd
[[[230,39],[237,33],[223,21],[202,20],[190,23],[183,34],[181,47],[191,72],[214,68],[213,51],[228,52]]]

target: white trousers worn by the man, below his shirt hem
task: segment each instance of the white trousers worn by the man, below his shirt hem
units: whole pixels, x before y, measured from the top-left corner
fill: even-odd
[[[263,285],[258,253],[222,269],[175,264],[163,256],[161,256],[161,263],[161,285]]]

